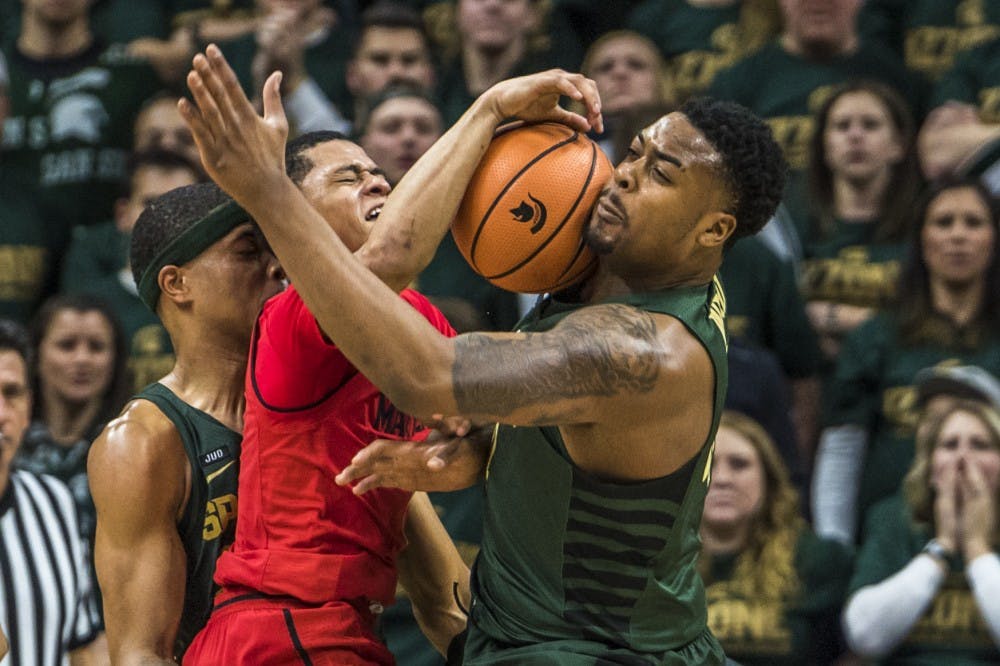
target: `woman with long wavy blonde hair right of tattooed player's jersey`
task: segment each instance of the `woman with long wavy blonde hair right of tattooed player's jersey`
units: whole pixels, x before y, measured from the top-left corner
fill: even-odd
[[[847,550],[816,537],[771,438],[726,411],[701,522],[708,622],[743,666],[831,663],[850,578]]]

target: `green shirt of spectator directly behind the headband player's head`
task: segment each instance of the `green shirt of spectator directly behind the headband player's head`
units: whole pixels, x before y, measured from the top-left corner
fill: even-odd
[[[61,288],[106,300],[118,316],[127,341],[133,392],[170,372],[174,348],[156,316],[139,300],[128,263],[129,235],[114,222],[76,227],[63,264]]]

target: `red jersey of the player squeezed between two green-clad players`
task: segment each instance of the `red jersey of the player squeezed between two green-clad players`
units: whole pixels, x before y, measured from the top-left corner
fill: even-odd
[[[442,333],[454,330],[420,294],[400,294]],[[410,493],[358,497],[334,477],[379,438],[422,426],[397,410],[322,333],[294,287],[264,306],[247,367],[236,539],[215,580],[229,592],[306,604],[390,604]]]

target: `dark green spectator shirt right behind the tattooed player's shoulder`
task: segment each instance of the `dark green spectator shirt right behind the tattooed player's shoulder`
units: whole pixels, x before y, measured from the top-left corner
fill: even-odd
[[[822,355],[792,266],[758,238],[741,238],[719,269],[726,289],[726,329],[778,357],[795,379],[819,372]]]

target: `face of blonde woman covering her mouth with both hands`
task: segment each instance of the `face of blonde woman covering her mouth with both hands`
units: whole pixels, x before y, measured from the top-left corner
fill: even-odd
[[[931,484],[938,487],[949,468],[959,475],[975,467],[996,495],[1000,487],[1000,450],[997,435],[976,414],[956,410],[945,417],[931,454]],[[961,478],[961,476],[959,477]]]

